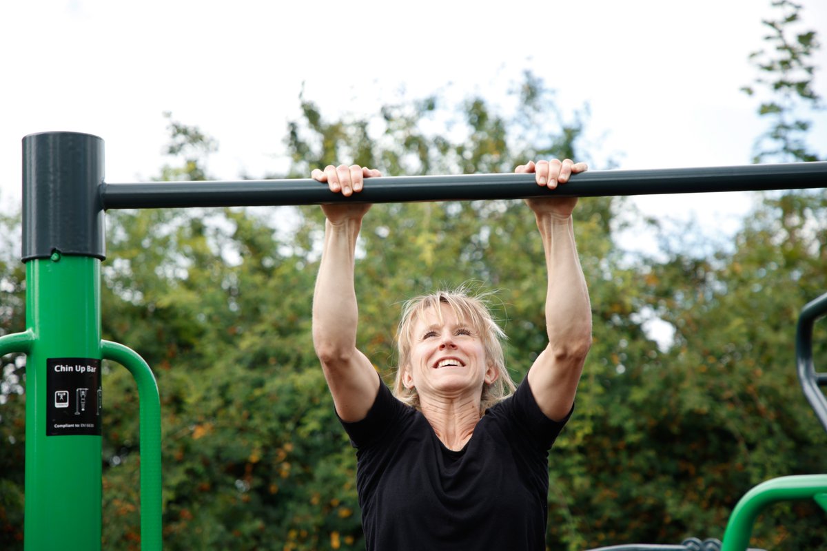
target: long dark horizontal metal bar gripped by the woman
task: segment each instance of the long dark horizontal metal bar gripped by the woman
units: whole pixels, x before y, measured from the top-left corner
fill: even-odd
[[[370,178],[352,197],[309,178],[237,182],[103,183],[104,209],[318,205],[350,202],[476,201],[559,196],[606,197],[827,187],[827,162],[748,164],[700,169],[596,170],[549,191],[532,174]]]

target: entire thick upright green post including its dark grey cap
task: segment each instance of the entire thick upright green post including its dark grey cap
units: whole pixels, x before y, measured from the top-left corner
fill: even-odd
[[[26,551],[101,549],[103,140],[23,139]]]

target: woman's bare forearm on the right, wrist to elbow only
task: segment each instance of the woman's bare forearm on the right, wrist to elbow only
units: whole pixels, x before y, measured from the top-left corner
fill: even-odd
[[[549,349],[560,359],[581,362],[591,344],[591,304],[571,216],[537,216],[546,254],[546,330]]]

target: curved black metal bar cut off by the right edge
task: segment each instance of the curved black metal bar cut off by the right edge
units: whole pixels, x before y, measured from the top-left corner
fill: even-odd
[[[796,329],[796,369],[801,390],[810,402],[817,416],[827,430],[827,398],[821,392],[820,384],[827,383],[827,373],[816,373],[813,362],[813,325],[827,314],[827,293],[808,302],[801,310]]]

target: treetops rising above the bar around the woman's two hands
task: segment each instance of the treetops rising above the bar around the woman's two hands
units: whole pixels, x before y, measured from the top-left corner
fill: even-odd
[[[367,119],[327,121],[303,94],[303,119],[289,122],[285,139],[293,160],[289,175],[306,178],[311,169],[343,159],[394,176],[511,172],[528,159],[575,156],[587,108],[564,116],[553,92],[531,73],[507,96],[500,109],[478,96],[458,106],[426,97],[385,105]],[[589,159],[578,153],[579,160]]]

